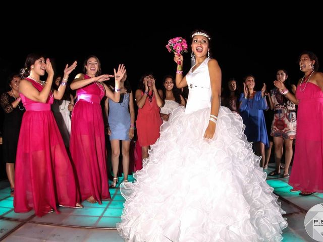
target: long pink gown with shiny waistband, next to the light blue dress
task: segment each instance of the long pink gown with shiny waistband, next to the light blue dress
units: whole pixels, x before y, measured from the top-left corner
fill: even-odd
[[[89,77],[85,75],[85,78]],[[77,90],[72,113],[70,151],[75,164],[82,201],[93,196],[111,199],[106,173],[104,124],[100,101],[104,96],[100,83]]]

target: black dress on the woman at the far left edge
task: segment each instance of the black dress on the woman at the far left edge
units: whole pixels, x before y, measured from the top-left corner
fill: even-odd
[[[11,105],[13,101],[15,101],[15,98],[7,92],[1,94],[0,104],[5,111],[3,127],[3,162],[5,163],[15,163],[16,161],[21,120],[25,111],[21,102],[19,106],[14,108]]]

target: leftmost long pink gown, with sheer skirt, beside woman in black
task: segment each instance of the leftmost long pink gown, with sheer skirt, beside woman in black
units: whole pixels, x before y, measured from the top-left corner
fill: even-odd
[[[28,81],[38,90],[42,86]],[[50,94],[51,95],[51,94]],[[74,170],[64,142],[50,110],[53,98],[46,103],[32,101],[20,93],[26,108],[16,158],[15,212],[35,210],[43,216],[57,205],[75,207],[79,200]]]

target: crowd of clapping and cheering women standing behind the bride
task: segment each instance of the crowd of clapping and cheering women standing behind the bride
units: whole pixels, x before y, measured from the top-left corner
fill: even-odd
[[[206,36],[201,33],[200,36]],[[201,43],[202,46],[204,42]],[[212,65],[212,61],[209,63]],[[299,66],[304,77],[297,86],[289,83],[286,70],[279,69],[275,88],[270,92],[264,83],[256,91],[253,75],[244,78],[241,90],[236,79],[230,79],[222,92],[221,104],[225,107],[221,110],[242,117],[244,134],[252,142],[263,169],[268,168],[266,154],[270,152],[266,153],[266,149],[274,143],[276,165],[269,175],[280,175],[283,168],[282,176],[290,177],[291,191],[307,196],[323,192],[323,74],[317,71],[318,60],[312,52],[300,55]],[[187,102],[179,89],[185,86],[178,82],[180,71],[176,78],[165,76],[163,90],[156,88],[157,80],[152,73],[145,73],[133,94],[124,65],[114,69],[113,74],[102,74],[99,59],[91,55],[83,63],[83,72],[69,84],[69,76],[76,67],[77,62],[66,65],[63,75],[58,75],[49,58],[29,54],[20,73],[9,77],[9,91],[1,95],[5,111],[3,161],[15,212],[34,209],[37,216],[43,216],[53,211],[59,213],[58,206],[77,209],[83,207],[83,201],[101,204],[111,199],[109,187],[116,188],[119,182],[120,154],[123,184],[128,183],[130,146],[135,134],[147,166],[151,146],[161,133],[169,132],[167,123],[175,122],[175,116],[181,115],[179,107]],[[198,68],[192,69],[192,75],[195,71]],[[45,73],[44,82],[40,79]],[[183,80],[186,85],[189,83]],[[101,100],[105,103],[103,112]],[[270,110],[271,118],[266,120],[265,114]],[[218,112],[211,115],[214,120],[218,119]],[[205,138],[212,129],[215,128],[211,123]],[[106,152],[105,131],[109,134],[111,154]],[[281,164],[283,154],[285,166]],[[112,160],[110,186],[107,155]]]

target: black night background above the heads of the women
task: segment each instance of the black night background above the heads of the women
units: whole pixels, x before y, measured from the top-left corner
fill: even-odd
[[[303,50],[313,51],[319,60],[323,58],[321,12],[313,2],[299,6],[259,2],[252,7],[246,2],[228,2],[231,6],[216,9],[210,9],[206,2],[195,2],[187,6],[188,10],[182,9],[186,7],[184,2],[167,2],[158,9],[164,13],[161,16],[156,14],[156,8],[139,2],[132,3],[135,7],[121,2],[122,8],[109,3],[109,8],[102,9],[97,2],[74,4],[72,9],[53,2],[46,4],[44,7],[43,2],[28,2],[28,7],[7,5],[2,9],[0,92],[6,89],[8,75],[23,68],[31,52],[52,58],[57,73],[63,72],[65,64],[78,61],[69,82],[82,72],[84,59],[94,54],[100,59],[104,74],[113,74],[113,68],[124,63],[134,90],[147,71],[154,72],[157,86],[161,87],[162,78],[176,71],[173,54],[165,47],[168,40],[182,36],[190,42],[190,33],[195,29],[204,29],[212,37],[212,56],[222,69],[223,86],[231,77],[241,86],[243,77],[253,74],[258,90],[263,82],[270,90],[278,68],[286,69],[290,81],[297,83],[303,76],[298,66]],[[184,54],[184,73],[190,69],[190,52]],[[0,111],[0,131],[2,120]]]

